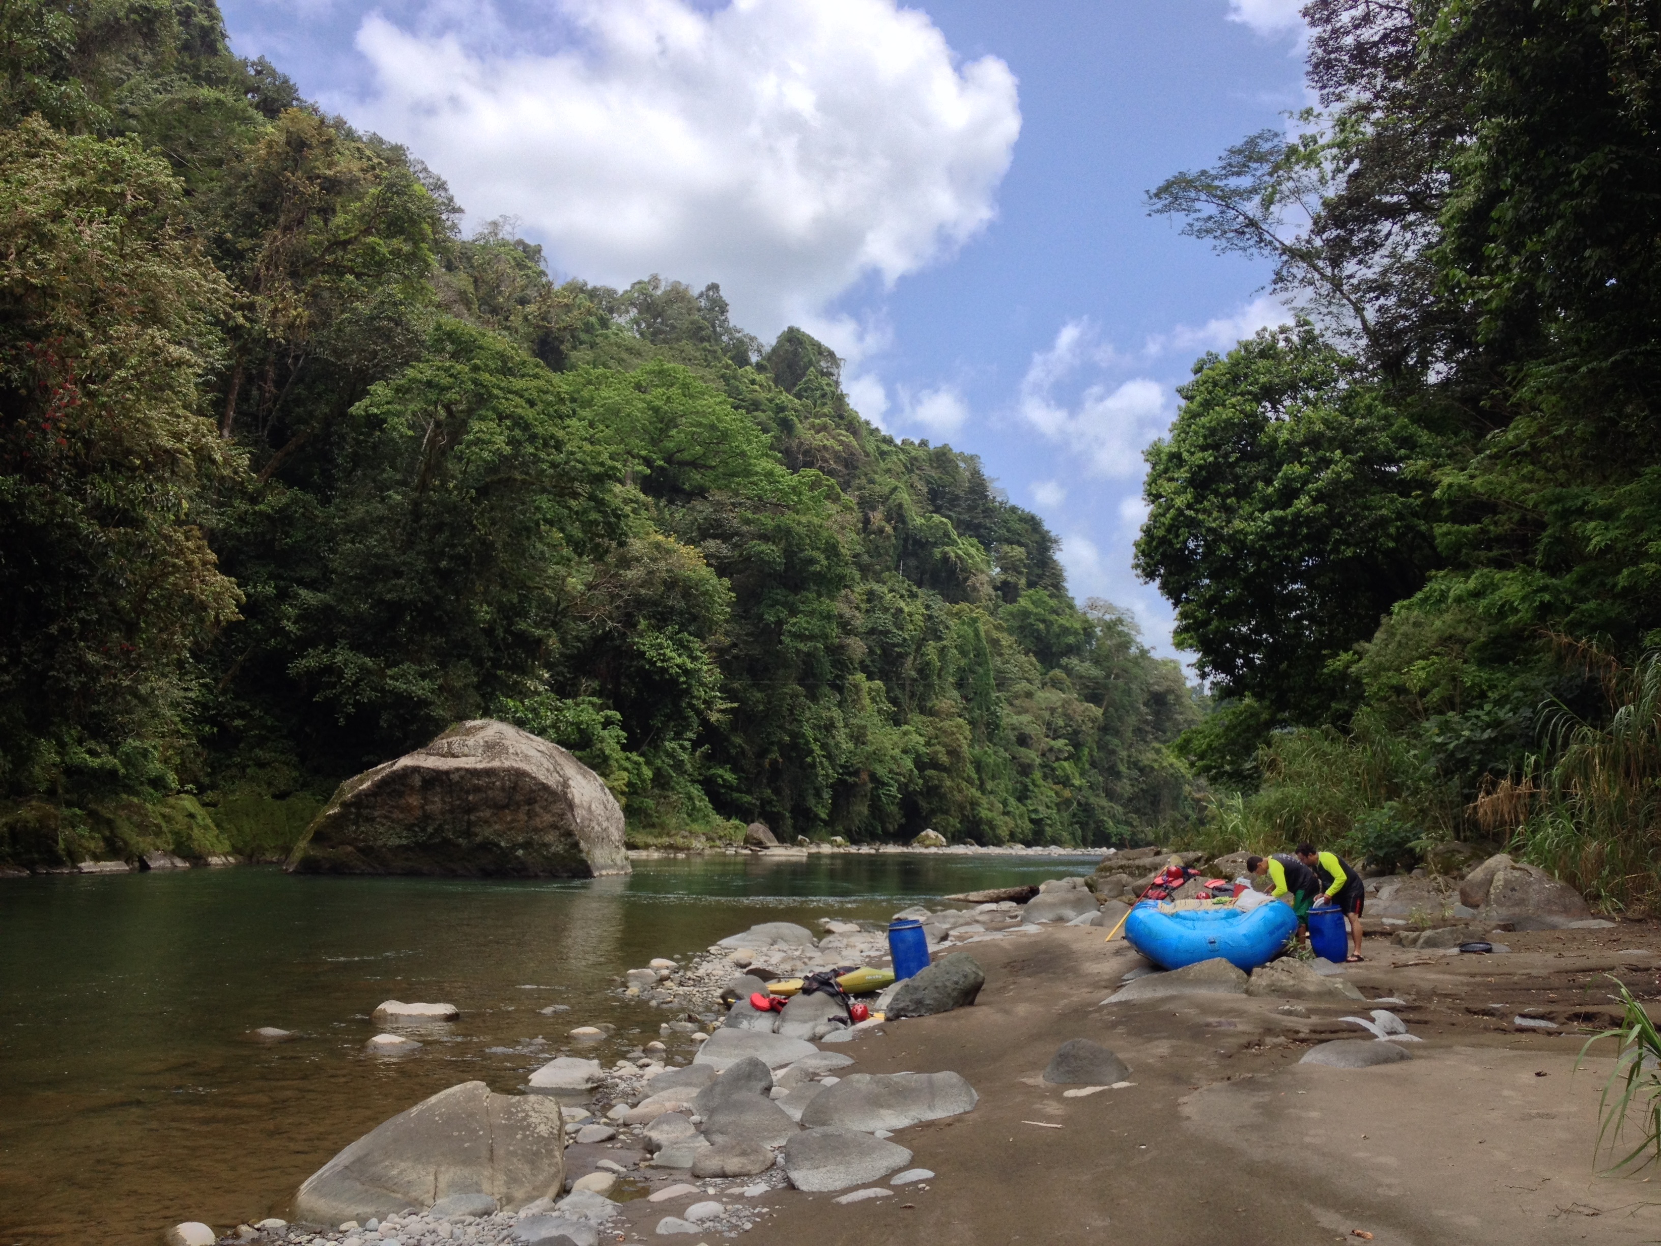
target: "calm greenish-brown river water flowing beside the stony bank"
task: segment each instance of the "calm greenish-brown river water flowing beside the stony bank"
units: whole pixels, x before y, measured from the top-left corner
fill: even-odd
[[[661,1010],[608,993],[651,957],[1095,861],[746,854],[586,882],[276,867],[0,882],[0,1246],[153,1246],[181,1219],[224,1231],[282,1214],[331,1155],[434,1091],[518,1090],[583,1023],[618,1027],[581,1052],[608,1062],[656,1038]],[[462,1020],[412,1057],[370,1057],[385,998],[443,1000]],[[262,1025],[297,1038],[249,1040]]]

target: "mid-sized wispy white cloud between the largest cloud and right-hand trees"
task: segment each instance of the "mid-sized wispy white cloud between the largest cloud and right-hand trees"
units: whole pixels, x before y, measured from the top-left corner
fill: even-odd
[[[1143,447],[1171,422],[1163,385],[1136,377],[1113,389],[1088,385],[1075,404],[1055,397],[1061,382],[1100,354],[1088,321],[1061,326],[1051,347],[1033,354],[1022,380],[1020,412],[1046,439],[1081,457],[1095,475],[1141,477]]]

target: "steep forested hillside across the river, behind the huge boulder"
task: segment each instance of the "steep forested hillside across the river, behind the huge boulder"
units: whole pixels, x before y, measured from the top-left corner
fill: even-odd
[[[1191,814],[1178,665],[807,334],[463,238],[211,0],[0,23],[0,864],[282,852],[482,714],[636,839]]]

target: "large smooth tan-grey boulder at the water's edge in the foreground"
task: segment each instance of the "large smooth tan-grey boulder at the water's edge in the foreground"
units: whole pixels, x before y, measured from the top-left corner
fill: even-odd
[[[558,1198],[565,1185],[560,1105],[463,1082],[375,1126],[306,1178],[294,1218],[319,1224],[488,1194],[503,1208]]]

